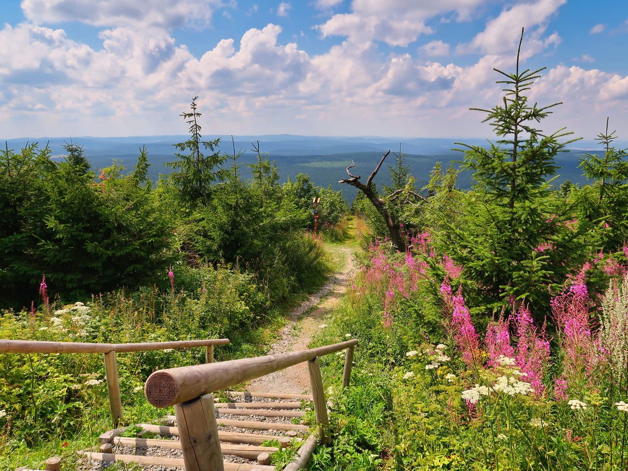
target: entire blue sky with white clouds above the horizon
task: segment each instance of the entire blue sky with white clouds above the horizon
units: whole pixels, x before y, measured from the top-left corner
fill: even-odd
[[[0,138],[490,137],[521,28],[544,131],[628,138],[625,0],[2,0]]]

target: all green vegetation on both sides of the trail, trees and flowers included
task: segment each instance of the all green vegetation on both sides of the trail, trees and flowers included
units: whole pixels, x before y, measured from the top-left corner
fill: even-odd
[[[344,356],[320,359],[334,440],[311,470],[625,470],[627,153],[607,122],[603,155],[580,160],[588,183],[553,186],[573,137],[539,129],[558,106],[528,99],[542,71],[522,70],[519,53],[515,72],[497,71],[504,97],[480,110],[497,139],[460,144],[470,190],[440,165],[416,188],[400,148],[391,185],[360,188],[356,232],[338,192],[305,174],[279,185],[259,144],[243,181],[235,146],[229,156],[202,141],[195,102],[175,172],[156,185],[143,152],[131,173],[114,165],[98,178],[75,144],[59,163],[36,145],[7,149],[0,295],[14,309],[0,337],[229,337],[219,358],[256,355],[281,324],[278,306],[324,279],[325,246],[359,239],[359,272],[313,342],[360,344],[344,390]],[[201,355],[121,356],[125,414],[151,418],[146,376]],[[5,463],[43,441],[77,449],[106,421],[100,359],[3,355],[0,368]]]

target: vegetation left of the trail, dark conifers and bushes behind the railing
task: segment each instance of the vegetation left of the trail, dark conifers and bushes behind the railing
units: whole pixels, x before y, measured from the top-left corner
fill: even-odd
[[[341,193],[307,175],[282,187],[259,143],[253,177],[243,180],[241,151],[226,155],[203,141],[195,100],[183,117],[190,138],[175,146],[173,173],[156,182],[145,149],[133,170],[113,163],[100,175],[76,143],[61,160],[36,143],[0,154],[0,338],[227,337],[217,359],[254,356],[285,311],[325,281],[334,261],[323,238],[342,237]],[[317,237],[315,196],[323,201]],[[203,355],[119,355],[124,418],[157,413],[141,388],[151,372]],[[71,457],[108,428],[101,355],[1,355],[0,468]]]

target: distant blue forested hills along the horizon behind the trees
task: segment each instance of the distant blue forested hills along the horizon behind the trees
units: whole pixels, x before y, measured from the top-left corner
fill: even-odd
[[[214,139],[216,136],[205,136]],[[171,169],[165,163],[172,161],[173,143],[185,141],[187,136],[130,136],[126,138],[94,138],[90,136],[78,138],[20,138],[8,139],[9,149],[20,149],[27,142],[39,142],[40,146],[50,143],[53,156],[61,158],[64,151],[62,146],[70,141],[84,146],[85,154],[92,166],[100,170],[111,165],[112,160],[121,162],[127,168],[133,168],[137,160],[139,147],[146,145],[148,160],[151,163],[149,176],[155,181],[161,174],[170,173]],[[411,173],[417,180],[417,186],[427,183],[430,171],[436,162],[447,166],[462,158],[462,153],[452,151],[457,148],[455,142],[462,141],[473,145],[482,145],[484,139],[386,139],[386,138],[333,138],[318,136],[291,136],[280,134],[274,136],[234,136],[236,151],[240,148],[245,151],[240,158],[243,168],[247,163],[253,163],[255,154],[251,151],[251,143],[259,139],[262,152],[268,152],[271,161],[276,161],[280,176],[280,182],[295,178],[298,173],[307,173],[315,185],[327,187],[332,185],[334,190],[342,190],[348,201],[355,197],[355,188],[348,185],[340,185],[338,180],[344,178],[345,168],[356,164],[355,175],[370,175],[383,152],[391,149],[399,151],[401,143],[404,153],[408,153],[407,160],[411,166]],[[626,147],[628,143],[618,143],[619,147]],[[555,180],[557,185],[570,180],[573,183],[583,183],[582,171],[577,168],[578,158],[585,152],[599,152],[595,141],[578,141],[568,153],[560,154],[558,165],[559,178]],[[233,146],[230,136],[222,136],[220,149],[226,153],[232,153]],[[391,159],[392,160],[392,159]],[[457,164],[455,164],[458,166]],[[384,167],[386,168],[386,167]],[[387,172],[377,175],[376,183],[385,185],[388,183]],[[470,180],[467,173],[460,174],[458,185],[468,188]]]

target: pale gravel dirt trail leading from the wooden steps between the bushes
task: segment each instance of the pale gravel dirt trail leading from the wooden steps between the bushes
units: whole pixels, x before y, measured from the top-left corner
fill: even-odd
[[[268,354],[293,352],[308,348],[313,335],[320,330],[328,313],[338,304],[355,270],[354,251],[349,247],[338,248],[338,256],[344,257],[343,268],[333,274],[327,284],[311,295],[292,312],[291,321],[279,332],[279,340]],[[308,391],[310,379],[305,363],[271,373],[251,382],[249,391],[257,393],[296,393]]]

